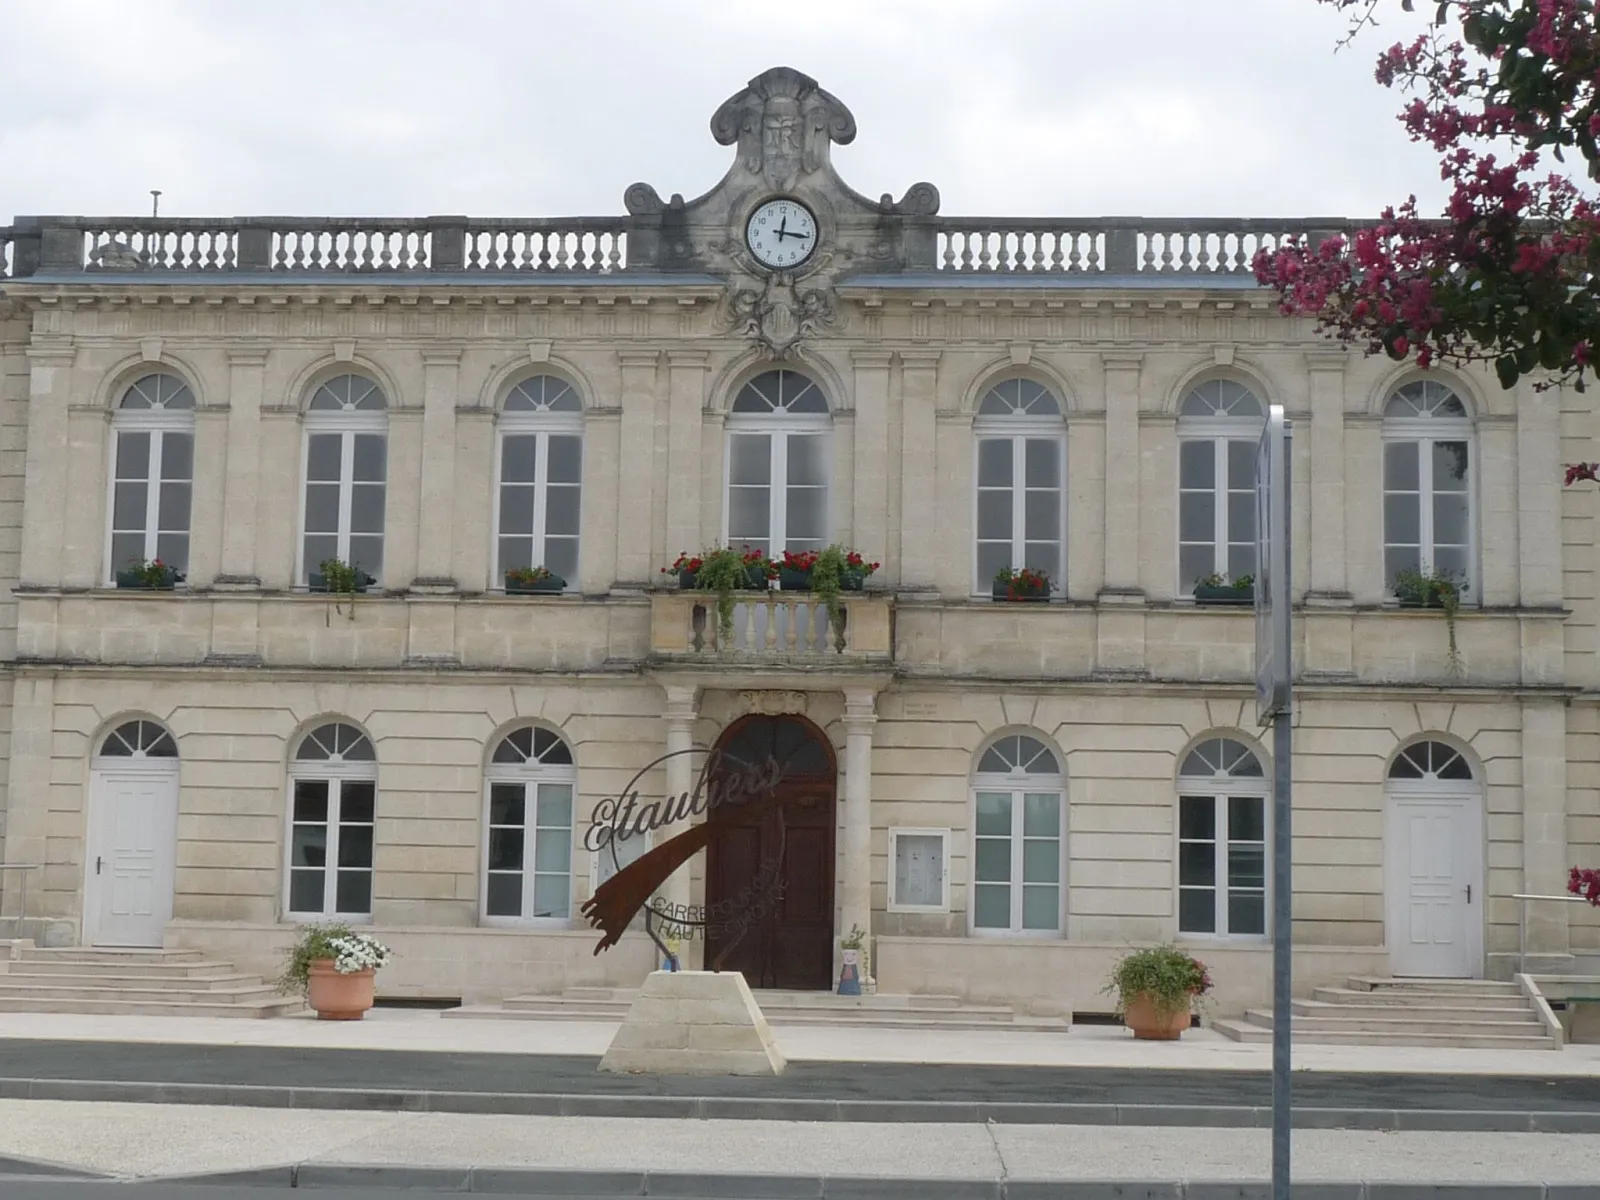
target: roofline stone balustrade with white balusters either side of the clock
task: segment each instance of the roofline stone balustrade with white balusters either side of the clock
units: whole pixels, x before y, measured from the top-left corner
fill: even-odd
[[[614,275],[702,270],[659,214],[573,218],[90,218],[0,227],[0,278],[139,275]],[[1363,222],[1253,218],[899,218],[899,258],[934,275],[1248,275],[1259,250]],[[674,258],[677,256],[677,258]]]

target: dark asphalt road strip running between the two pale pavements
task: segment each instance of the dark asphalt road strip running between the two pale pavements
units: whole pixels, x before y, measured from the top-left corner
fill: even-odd
[[[790,1062],[774,1078],[602,1075],[598,1059],[136,1042],[0,1042],[0,1078],[589,1096],[1264,1106],[1267,1072]],[[1296,1107],[1600,1112],[1600,1078],[1296,1072]],[[10,1200],[10,1198],[8,1198]]]

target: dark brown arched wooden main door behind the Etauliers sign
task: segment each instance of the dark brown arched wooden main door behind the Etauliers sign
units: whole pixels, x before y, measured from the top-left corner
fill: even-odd
[[[834,747],[798,715],[750,715],[728,726],[717,750],[730,766],[778,762],[773,803],[730,805],[730,827],[706,850],[706,907],[738,906],[762,864],[781,861],[782,898],[742,934],[712,928],[706,963],[741,971],[750,987],[824,990],[834,979],[834,838],[838,770]]]

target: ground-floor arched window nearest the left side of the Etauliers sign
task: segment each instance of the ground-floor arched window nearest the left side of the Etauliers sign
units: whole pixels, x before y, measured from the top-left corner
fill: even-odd
[[[485,918],[565,922],[573,912],[578,792],[571,747],[544,728],[512,730],[494,747],[486,774]]]

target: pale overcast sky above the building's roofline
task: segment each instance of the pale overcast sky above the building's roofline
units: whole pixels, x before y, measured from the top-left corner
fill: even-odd
[[[771,66],[845,181],[973,216],[1370,216],[1443,197],[1314,0],[0,0],[0,218],[573,216],[693,198]]]

